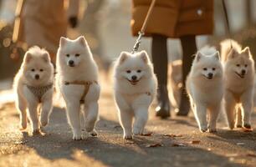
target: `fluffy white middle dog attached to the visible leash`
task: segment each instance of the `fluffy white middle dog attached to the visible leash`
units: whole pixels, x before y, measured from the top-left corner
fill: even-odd
[[[120,53],[114,73],[115,104],[124,139],[132,139],[133,118],[133,134],[142,134],[145,128],[148,109],[156,95],[156,75],[145,51]]]

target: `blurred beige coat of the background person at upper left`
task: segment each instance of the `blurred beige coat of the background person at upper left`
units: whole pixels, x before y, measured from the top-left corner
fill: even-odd
[[[68,18],[78,14],[79,0],[24,0],[18,41],[46,48],[53,58],[59,38],[66,36]]]

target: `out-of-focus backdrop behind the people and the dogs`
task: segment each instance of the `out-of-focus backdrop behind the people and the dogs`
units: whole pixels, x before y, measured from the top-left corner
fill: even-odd
[[[250,46],[255,56],[256,0],[225,2],[230,37],[244,46]],[[218,47],[219,41],[228,37],[222,0],[215,0],[214,3],[215,33],[212,36],[197,37],[198,48],[207,43]],[[12,42],[16,6],[17,0],[0,0],[0,91],[11,89],[13,76],[17,73],[25,49],[23,46],[17,48],[16,43]],[[136,38],[131,37],[131,0],[81,0],[80,7],[78,27],[68,28],[67,36],[75,38],[84,35],[90,43],[100,69],[107,72],[119,53],[131,51],[136,41]],[[150,38],[143,38],[140,49],[151,53],[150,45]],[[168,51],[170,62],[179,59],[179,41],[169,39]]]

